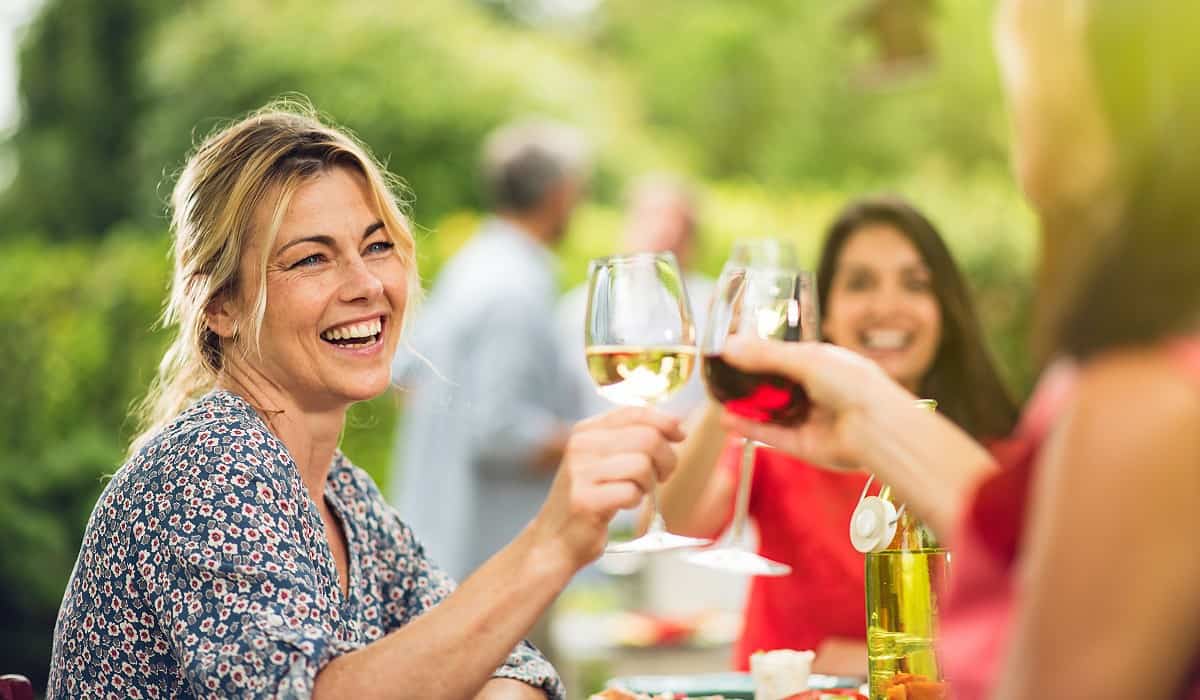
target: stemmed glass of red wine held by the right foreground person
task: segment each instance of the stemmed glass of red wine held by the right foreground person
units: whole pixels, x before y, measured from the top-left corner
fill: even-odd
[[[701,346],[708,390],[726,411],[755,420],[799,423],[810,403],[804,388],[770,373],[743,372],[721,358],[730,335],[743,333],[782,341],[816,340],[820,325],[812,275],[794,267],[727,264],[718,282]],[[742,448],[733,522],[718,546],[694,552],[695,564],[760,576],[786,576],[792,568],[743,544],[754,481],[755,443]]]

